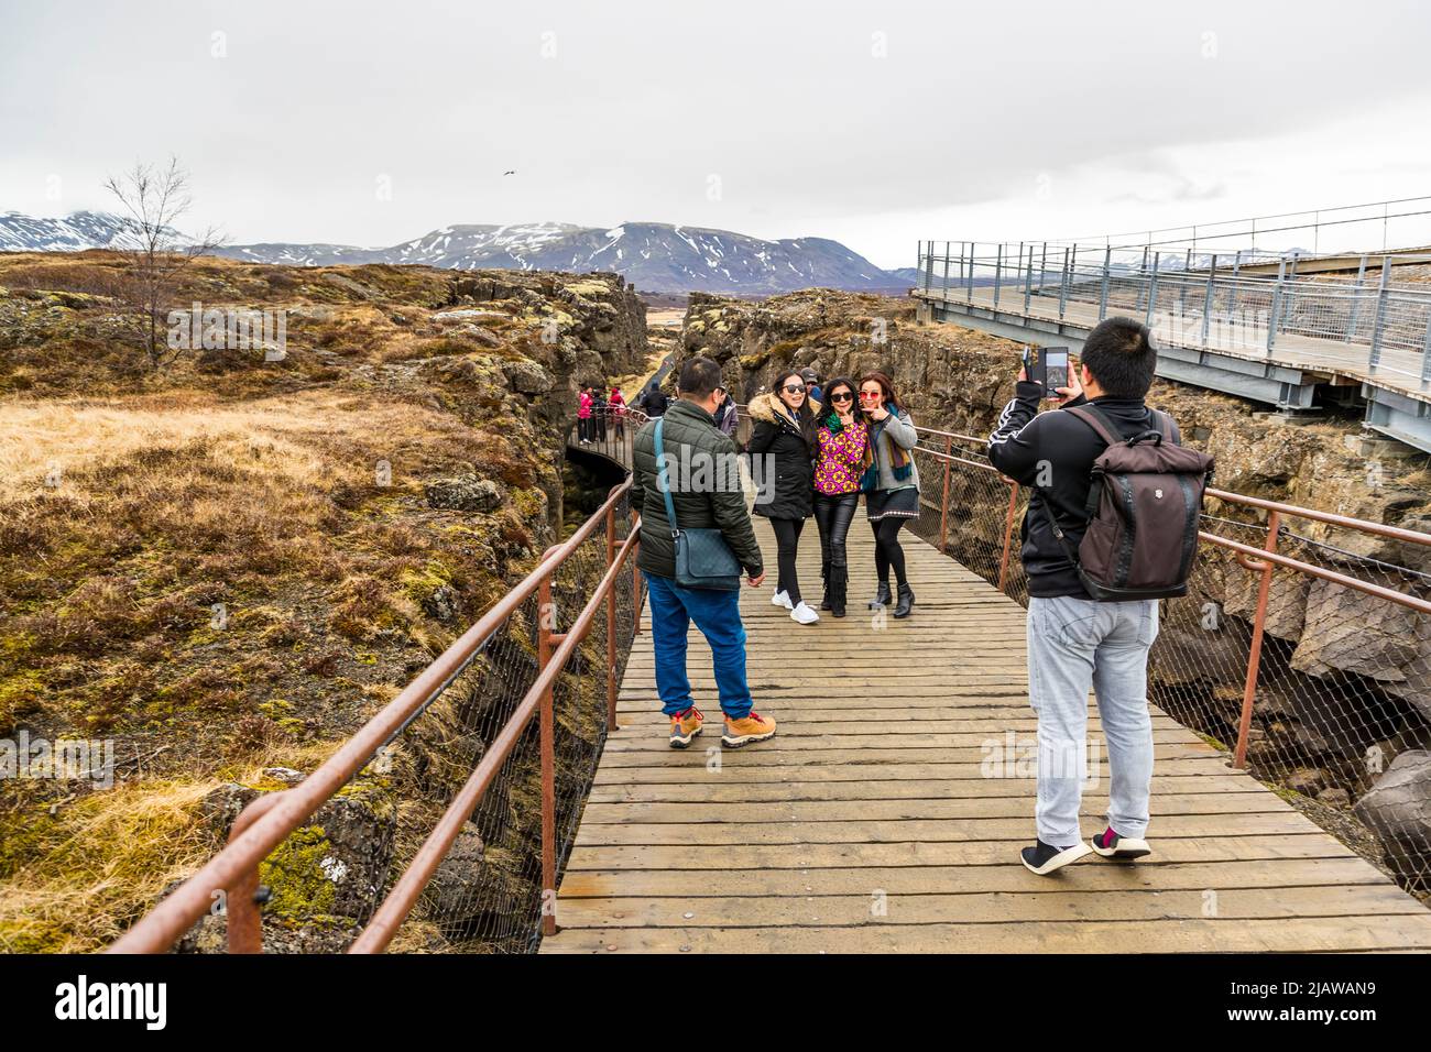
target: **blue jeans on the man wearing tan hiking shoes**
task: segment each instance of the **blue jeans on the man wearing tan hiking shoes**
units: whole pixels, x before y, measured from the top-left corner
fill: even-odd
[[[691,621],[711,647],[720,707],[733,720],[750,716],[746,686],[746,625],[740,621],[738,591],[683,588],[670,577],[645,575],[651,595],[651,641],[655,644],[655,691],[661,711],[677,716],[691,707],[685,676],[685,637]]]

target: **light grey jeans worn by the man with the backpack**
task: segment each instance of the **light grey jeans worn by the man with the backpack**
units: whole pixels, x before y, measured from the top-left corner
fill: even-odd
[[[1148,832],[1153,776],[1148,714],[1148,648],[1158,638],[1158,600],[1095,603],[1029,598],[1029,700],[1039,717],[1039,839],[1070,847],[1079,833],[1088,753],[1088,693],[1098,696],[1108,749],[1108,824],[1119,836]],[[1099,833],[1103,830],[1099,829]]]

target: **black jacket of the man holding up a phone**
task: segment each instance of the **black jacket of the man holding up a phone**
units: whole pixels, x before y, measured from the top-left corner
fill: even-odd
[[[1022,381],[1015,398],[999,417],[997,429],[989,437],[989,461],[1019,485],[1029,487],[1029,510],[1023,515],[1023,568],[1029,574],[1029,594],[1043,598],[1076,595],[1090,598],[1078,580],[1078,570],[1059,540],[1049,528],[1043,510],[1045,494],[1053,502],[1053,512],[1078,551],[1083,540],[1083,504],[1096,461],[1105,445],[1088,424],[1073,414],[1050,409],[1039,412],[1042,384]],[[1079,395],[1069,405],[1088,405]],[[1142,399],[1100,396],[1092,399],[1118,429],[1122,438],[1155,429],[1152,411]],[[1178,425],[1172,425],[1175,441],[1182,441]]]

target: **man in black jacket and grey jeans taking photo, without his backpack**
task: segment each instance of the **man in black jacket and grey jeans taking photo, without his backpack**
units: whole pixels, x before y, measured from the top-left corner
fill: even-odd
[[[1109,318],[1089,333],[1078,369],[1069,369],[1069,386],[1045,392],[1020,371],[1015,398],[989,438],[993,467],[1032,494],[1022,560],[1029,577],[1029,700],[1039,720],[1037,840],[1022,857],[1039,875],[1089,850],[1119,859],[1151,852],[1143,839],[1153,767],[1148,650],[1158,635],[1158,600],[1096,601],[1075,554],[1092,515],[1093,462],[1109,449],[1106,439],[1156,432],[1179,442],[1176,425],[1143,401],[1156,365],[1148,328]],[[1040,414],[1045,396],[1059,408]],[[1083,412],[1070,412],[1076,406]],[[1100,434],[1100,425],[1109,434]],[[1108,827],[1085,843],[1079,803],[1090,687],[1110,780]]]

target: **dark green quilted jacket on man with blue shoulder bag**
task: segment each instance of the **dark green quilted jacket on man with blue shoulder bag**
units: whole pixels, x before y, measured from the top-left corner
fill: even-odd
[[[746,511],[736,444],[716,429],[708,412],[684,398],[671,402],[663,419],[661,444],[671,465],[671,502],[677,524],[681,530],[718,528],[746,573],[758,577],[764,564],[750,512]],[[700,482],[701,477],[695,474],[701,471],[695,454],[708,465],[705,482]],[[641,548],[635,562],[648,574],[675,577],[675,541],[665,517],[665,497],[657,485],[655,421],[635,432],[631,465],[631,507],[641,512]],[[687,477],[681,465],[690,465],[693,474]]]

